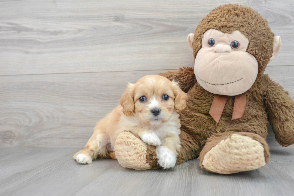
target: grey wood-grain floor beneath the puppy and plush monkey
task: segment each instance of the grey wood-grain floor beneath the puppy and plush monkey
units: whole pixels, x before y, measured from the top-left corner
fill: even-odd
[[[294,148],[269,132],[270,161],[263,168],[222,175],[194,159],[169,170],[136,171],[116,160],[80,165],[75,148],[0,148],[0,195],[279,195],[294,192]]]

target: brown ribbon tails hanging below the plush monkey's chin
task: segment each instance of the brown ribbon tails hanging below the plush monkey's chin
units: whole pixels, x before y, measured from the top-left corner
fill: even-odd
[[[223,113],[223,108],[225,107],[227,95],[214,95],[209,114],[218,123],[220,121],[220,116]],[[234,108],[232,113],[232,120],[241,118],[245,111],[246,105],[246,92],[236,95]]]

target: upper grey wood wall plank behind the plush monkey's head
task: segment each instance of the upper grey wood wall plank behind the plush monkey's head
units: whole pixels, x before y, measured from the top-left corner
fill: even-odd
[[[225,3],[259,11],[283,42],[269,66],[293,65],[292,0],[23,0],[0,1],[0,75],[193,66],[187,35]]]

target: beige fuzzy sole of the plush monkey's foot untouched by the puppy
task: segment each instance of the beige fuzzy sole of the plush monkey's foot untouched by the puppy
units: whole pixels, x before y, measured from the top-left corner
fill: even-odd
[[[250,171],[265,165],[263,145],[248,136],[232,134],[208,151],[203,168],[219,174]]]

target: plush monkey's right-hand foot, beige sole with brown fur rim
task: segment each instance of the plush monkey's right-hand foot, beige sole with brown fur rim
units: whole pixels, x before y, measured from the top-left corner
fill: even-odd
[[[269,159],[268,145],[261,136],[229,132],[211,136],[200,152],[200,167],[219,174],[261,168]]]

